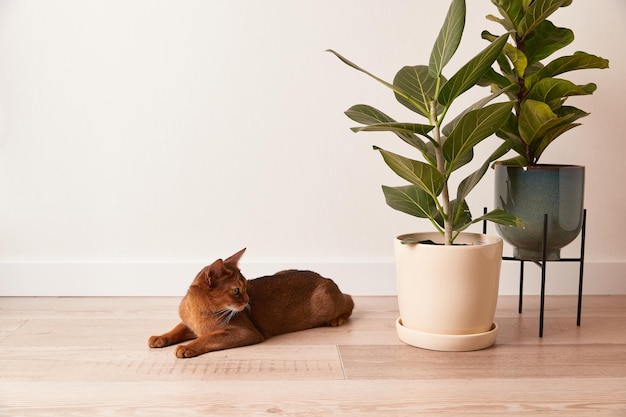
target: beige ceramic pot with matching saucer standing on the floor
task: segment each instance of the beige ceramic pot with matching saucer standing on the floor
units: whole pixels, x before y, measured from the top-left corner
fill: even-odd
[[[462,233],[453,246],[402,244],[441,242],[439,233],[398,236],[395,242],[400,317],[398,336],[413,346],[445,351],[493,345],[502,239]]]

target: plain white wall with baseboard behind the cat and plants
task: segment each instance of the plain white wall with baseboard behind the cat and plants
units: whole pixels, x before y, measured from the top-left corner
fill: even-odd
[[[371,145],[406,148],[351,133],[342,112],[406,112],[324,50],[390,80],[427,62],[447,3],[0,1],[0,295],[176,295],[242,247],[249,278],[309,267],[393,294],[393,236],[429,225],[380,191],[401,181]],[[468,3],[451,69],[500,31],[489,1]],[[622,0],[576,1],[553,19],[577,34],[570,52],[611,60],[582,74],[599,84],[576,101],[593,114],[544,159],[587,166],[588,293],[626,293],[625,15]],[[475,212],[491,187],[489,173]],[[552,293],[575,292],[576,268],[551,271]]]

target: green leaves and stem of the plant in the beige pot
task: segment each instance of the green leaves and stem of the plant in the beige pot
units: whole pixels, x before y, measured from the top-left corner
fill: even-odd
[[[507,226],[521,225],[519,219],[499,209],[473,219],[466,202],[489,165],[509,151],[511,145],[506,141],[459,183],[456,198],[451,196],[452,174],[473,159],[476,145],[503,127],[515,104],[510,101],[489,104],[512,89],[507,85],[461,111],[444,125],[455,100],[485,77],[501,56],[508,39],[508,34],[492,39],[489,46],[461,66],[452,77],[446,78],[443,72],[461,42],[465,14],[465,1],[452,0],[428,65],[405,66],[392,83],[329,50],[348,66],[391,89],[400,104],[426,119],[424,123],[397,122],[366,104],[357,104],[345,112],[350,119],[363,125],[352,128],[354,132],[393,132],[421,153],[423,161],[374,147],[389,168],[409,182],[399,187],[383,186],[387,204],[404,213],[429,219],[443,235],[446,245],[453,244],[458,234],[471,224],[483,220]]]

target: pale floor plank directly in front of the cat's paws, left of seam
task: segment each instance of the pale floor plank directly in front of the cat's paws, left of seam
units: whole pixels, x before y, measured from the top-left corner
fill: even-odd
[[[242,347],[180,360],[172,350],[5,348],[0,380],[224,381],[344,379],[334,345]]]

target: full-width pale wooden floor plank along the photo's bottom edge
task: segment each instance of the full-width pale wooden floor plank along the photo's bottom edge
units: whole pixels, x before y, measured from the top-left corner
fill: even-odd
[[[626,379],[0,382],[0,416],[608,416],[623,417]],[[33,395],[33,391],[36,393]]]

